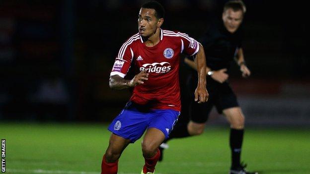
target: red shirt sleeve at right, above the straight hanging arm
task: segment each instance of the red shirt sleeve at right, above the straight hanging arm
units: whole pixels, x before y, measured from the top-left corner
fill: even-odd
[[[199,43],[185,33],[179,34],[182,42],[182,53],[193,56],[199,51]]]

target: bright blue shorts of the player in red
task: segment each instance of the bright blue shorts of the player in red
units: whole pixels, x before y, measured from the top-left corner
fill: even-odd
[[[128,102],[122,112],[112,121],[108,130],[131,143],[141,138],[146,129],[154,127],[168,138],[180,112],[174,110],[151,110]]]

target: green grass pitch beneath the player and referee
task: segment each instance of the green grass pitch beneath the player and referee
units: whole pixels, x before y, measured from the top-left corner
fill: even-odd
[[[110,132],[106,124],[0,123],[6,139],[7,174],[99,174]],[[248,128],[242,159],[260,174],[310,174],[309,129]],[[229,128],[208,127],[203,135],[174,139],[156,174],[227,174]],[[119,174],[140,174],[141,141],[119,161]],[[85,173],[82,173],[85,172]]]

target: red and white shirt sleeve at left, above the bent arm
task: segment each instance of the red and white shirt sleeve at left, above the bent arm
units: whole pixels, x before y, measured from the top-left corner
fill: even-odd
[[[133,57],[134,53],[131,45],[124,43],[118,52],[118,56],[115,58],[110,76],[119,75],[124,78],[130,68]]]

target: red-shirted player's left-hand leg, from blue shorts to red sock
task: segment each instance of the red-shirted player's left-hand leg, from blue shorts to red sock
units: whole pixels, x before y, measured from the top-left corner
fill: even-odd
[[[118,159],[129,143],[138,140],[147,129],[149,115],[146,111],[128,102],[124,110],[112,121],[109,146],[102,160],[101,174],[117,174]]]

